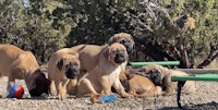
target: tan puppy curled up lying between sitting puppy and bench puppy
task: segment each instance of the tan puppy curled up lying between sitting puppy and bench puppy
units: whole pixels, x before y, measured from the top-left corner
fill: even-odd
[[[129,72],[123,72],[123,74],[125,75],[120,74],[120,81],[129,94],[141,98],[161,95],[161,87],[155,86],[147,77]]]

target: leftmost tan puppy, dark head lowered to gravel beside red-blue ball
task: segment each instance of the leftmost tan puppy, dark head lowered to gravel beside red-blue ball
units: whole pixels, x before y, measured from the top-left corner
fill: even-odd
[[[31,96],[48,94],[50,82],[39,70],[31,51],[24,51],[13,45],[0,45],[0,77],[2,76],[9,77],[8,89],[17,78],[25,80]]]

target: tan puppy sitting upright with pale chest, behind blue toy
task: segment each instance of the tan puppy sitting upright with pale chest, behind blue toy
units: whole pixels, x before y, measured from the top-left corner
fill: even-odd
[[[119,80],[121,65],[128,60],[123,45],[114,42],[99,53],[96,66],[78,81],[77,96],[109,95],[111,87],[122,97],[129,97]]]

